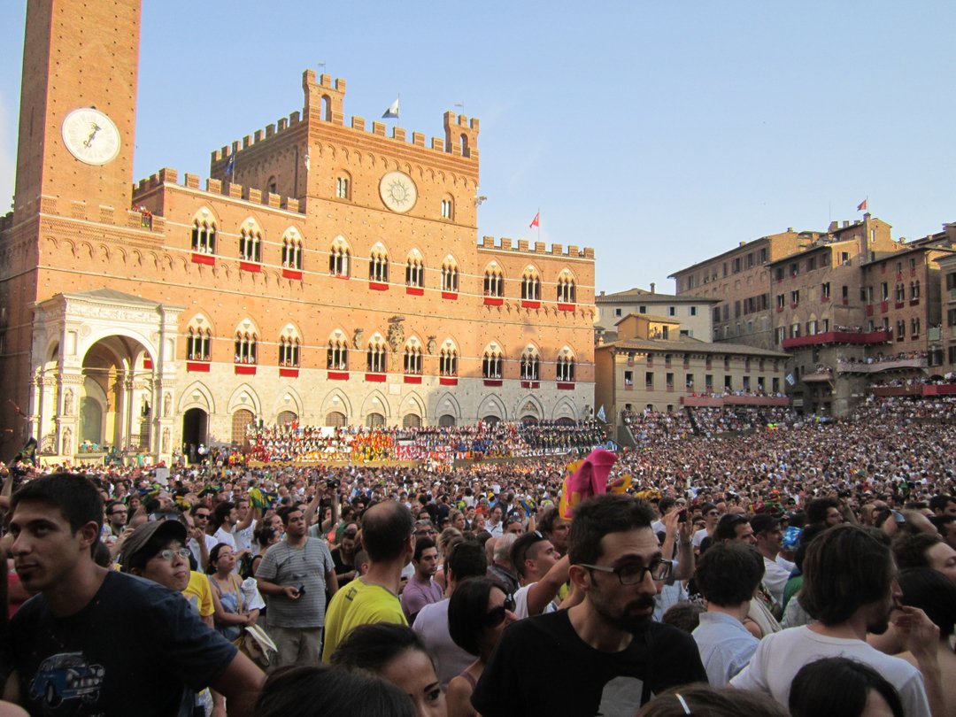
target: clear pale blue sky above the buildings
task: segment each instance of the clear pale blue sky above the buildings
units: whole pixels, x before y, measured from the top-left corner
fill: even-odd
[[[348,82],[346,117],[441,136],[481,120],[478,235],[597,250],[597,289],[657,282],[781,231],[956,221],[956,3],[144,0],[135,179],[206,177],[209,152]],[[9,197],[25,3],[0,3]],[[460,111],[460,110],[459,110]],[[3,203],[6,206],[6,203]]]

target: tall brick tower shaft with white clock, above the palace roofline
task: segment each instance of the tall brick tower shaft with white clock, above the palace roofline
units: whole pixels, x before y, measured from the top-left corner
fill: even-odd
[[[14,224],[42,196],[129,206],[140,0],[30,0]]]

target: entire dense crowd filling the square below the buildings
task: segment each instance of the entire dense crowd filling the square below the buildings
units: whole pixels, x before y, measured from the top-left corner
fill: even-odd
[[[0,716],[954,715],[953,409],[25,449]]]

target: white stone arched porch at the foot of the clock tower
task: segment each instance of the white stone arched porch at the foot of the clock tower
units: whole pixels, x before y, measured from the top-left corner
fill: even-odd
[[[182,311],[110,289],[36,306],[29,419],[42,455],[83,461],[108,446],[171,460]]]

